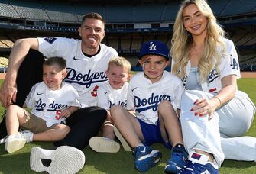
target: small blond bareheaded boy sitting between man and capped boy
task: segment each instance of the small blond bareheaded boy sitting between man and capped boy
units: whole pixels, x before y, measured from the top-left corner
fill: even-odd
[[[109,112],[113,105],[121,105],[126,108],[128,82],[130,78],[131,63],[124,57],[116,57],[109,61],[106,75],[109,81],[100,85],[97,90],[98,106],[105,108],[108,115],[102,125],[102,137],[92,137],[89,146],[96,152],[116,153],[120,149],[119,143],[115,142],[114,123]],[[121,141],[127,151],[131,148],[125,141]]]

